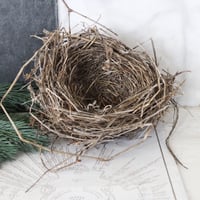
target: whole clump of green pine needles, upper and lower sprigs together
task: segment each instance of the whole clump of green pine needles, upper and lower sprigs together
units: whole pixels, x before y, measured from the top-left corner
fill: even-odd
[[[9,84],[0,84],[0,99],[3,97]],[[17,126],[22,136],[37,144],[47,146],[49,139],[46,135],[42,135],[39,130],[30,126],[28,102],[30,102],[30,94],[23,84],[18,83],[5,98],[3,105],[10,113],[12,120]],[[23,143],[17,136],[15,130],[9,120],[0,109],[0,164],[7,160],[16,159],[21,152],[31,152],[36,150],[30,144]]]

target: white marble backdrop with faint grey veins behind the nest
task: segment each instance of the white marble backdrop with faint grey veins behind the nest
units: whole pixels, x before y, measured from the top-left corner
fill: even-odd
[[[182,105],[200,105],[200,1],[199,0],[67,0],[70,7],[117,32],[130,47],[152,38],[160,68],[171,73],[190,70],[182,78]],[[67,26],[67,9],[58,0],[60,26]],[[91,22],[72,15],[72,26]],[[75,29],[74,29],[75,30]]]

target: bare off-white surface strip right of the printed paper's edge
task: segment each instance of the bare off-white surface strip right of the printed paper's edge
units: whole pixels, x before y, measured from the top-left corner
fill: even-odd
[[[179,122],[171,138],[171,145],[180,160],[179,166],[189,200],[200,199],[200,107],[180,109]]]

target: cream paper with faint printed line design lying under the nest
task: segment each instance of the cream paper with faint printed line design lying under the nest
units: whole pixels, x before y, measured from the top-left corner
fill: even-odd
[[[155,133],[142,144],[111,161],[84,158],[68,168],[48,172],[25,192],[45,171],[39,153],[20,156],[0,169],[0,200],[187,200],[177,165],[164,140],[171,124],[158,126],[163,161]],[[89,154],[109,157],[141,139],[119,139],[92,149]],[[59,146],[62,150],[66,145]],[[42,155],[47,167],[66,159],[64,155]]]

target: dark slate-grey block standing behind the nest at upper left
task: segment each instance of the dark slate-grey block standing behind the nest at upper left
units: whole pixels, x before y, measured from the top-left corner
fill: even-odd
[[[30,35],[56,26],[56,0],[0,0],[0,82],[12,81],[41,45]]]

